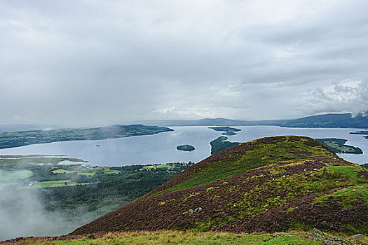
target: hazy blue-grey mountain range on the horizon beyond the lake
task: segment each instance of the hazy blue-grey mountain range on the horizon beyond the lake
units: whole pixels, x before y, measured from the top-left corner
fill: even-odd
[[[144,123],[161,126],[280,126],[280,127],[351,127],[368,128],[367,112],[353,117],[351,113],[324,114],[287,120],[231,120],[205,118],[200,120],[146,120]]]

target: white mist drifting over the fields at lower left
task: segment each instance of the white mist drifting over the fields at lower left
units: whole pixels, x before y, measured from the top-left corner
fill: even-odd
[[[67,234],[95,216],[79,208],[80,216],[47,211],[38,189],[20,190],[15,185],[0,188],[0,241],[15,237]]]

